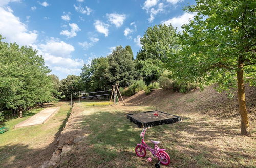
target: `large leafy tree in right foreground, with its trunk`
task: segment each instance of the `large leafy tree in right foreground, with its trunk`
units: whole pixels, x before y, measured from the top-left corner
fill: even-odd
[[[255,7],[247,0],[198,0],[186,7],[197,15],[183,26],[183,49],[170,55],[167,65],[181,80],[218,82],[220,90],[237,83],[242,135],[249,135],[244,78],[253,74],[255,79]]]

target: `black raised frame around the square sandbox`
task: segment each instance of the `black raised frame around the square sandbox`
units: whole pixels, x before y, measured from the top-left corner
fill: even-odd
[[[176,116],[176,115],[172,115],[172,114],[169,114],[169,113],[165,113],[165,112],[162,112],[162,111],[158,111],[158,110],[154,110],[154,111],[145,111],[145,112],[141,112],[141,113],[151,113],[151,112],[158,112],[159,115],[162,114],[167,114],[167,115],[170,115],[170,118],[168,119],[162,119],[162,120],[156,120],[156,121],[151,121],[151,122],[142,122],[138,119],[135,119],[133,117],[133,115],[135,113],[132,113],[132,114],[127,114],[126,117],[127,119],[130,120],[130,122],[133,122],[135,123],[136,125],[138,125],[139,128],[143,127],[143,128],[147,128],[147,127],[154,127],[154,126],[157,126],[157,125],[163,125],[163,124],[173,124],[173,123],[176,123],[176,122],[179,122],[181,121],[181,117],[180,116]]]

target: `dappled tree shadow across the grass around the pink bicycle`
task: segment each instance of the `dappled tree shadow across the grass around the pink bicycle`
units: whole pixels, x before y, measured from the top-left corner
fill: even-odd
[[[134,149],[139,143],[142,128],[138,128],[126,119],[126,114],[118,111],[98,111],[77,117],[72,121],[74,123],[72,126],[78,129],[62,135],[72,138],[86,134],[86,139],[79,145],[73,145],[73,149],[63,155],[59,166],[154,167],[157,159],[153,158],[152,163],[147,162],[146,158],[151,156],[149,151],[146,158],[136,156]],[[205,130],[205,127],[212,129]],[[153,144],[149,140],[161,141],[159,147],[167,148],[172,160],[171,164],[175,167],[241,166],[243,164],[238,161],[239,159],[247,160],[252,156],[239,153],[236,148],[229,147],[230,149],[226,151],[218,146],[204,144],[204,142],[218,141],[222,136],[233,136],[235,133],[231,126],[208,125],[204,119],[194,120],[186,117],[180,123],[149,128],[145,139],[152,147]],[[213,151],[227,155],[215,156]],[[230,155],[232,152],[236,153],[234,156],[237,159]],[[224,161],[215,160],[216,157],[223,157]]]

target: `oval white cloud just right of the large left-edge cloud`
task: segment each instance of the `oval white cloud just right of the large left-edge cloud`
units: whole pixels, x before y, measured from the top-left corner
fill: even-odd
[[[39,48],[42,52],[55,55],[56,57],[70,57],[71,52],[75,50],[72,45],[54,38],[51,38],[46,44],[40,44]]]

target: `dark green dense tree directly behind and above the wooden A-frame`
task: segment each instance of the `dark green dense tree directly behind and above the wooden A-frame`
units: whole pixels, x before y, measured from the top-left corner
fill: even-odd
[[[119,83],[119,86],[129,86],[134,80],[135,68],[132,55],[129,50],[117,46],[108,56],[109,68],[106,70],[106,78],[111,85]]]

